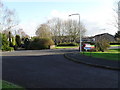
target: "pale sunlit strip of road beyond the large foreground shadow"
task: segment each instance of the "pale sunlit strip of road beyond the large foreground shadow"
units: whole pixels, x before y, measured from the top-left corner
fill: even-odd
[[[52,55],[64,54],[70,52],[78,52],[77,49],[46,49],[46,50],[19,50],[12,52],[2,52],[2,56],[39,56],[39,55]]]

